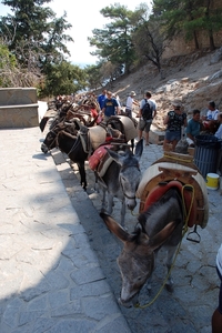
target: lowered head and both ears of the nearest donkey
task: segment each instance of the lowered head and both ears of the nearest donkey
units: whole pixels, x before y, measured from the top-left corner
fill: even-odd
[[[108,229],[123,242],[123,250],[118,258],[122,278],[122,290],[119,303],[130,307],[138,303],[141,287],[151,275],[154,268],[154,250],[163,244],[175,228],[176,222],[170,222],[152,239],[149,239],[141,228],[129,234],[110,215],[100,213]]]

